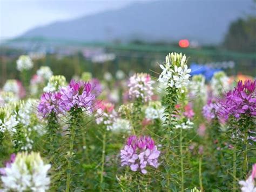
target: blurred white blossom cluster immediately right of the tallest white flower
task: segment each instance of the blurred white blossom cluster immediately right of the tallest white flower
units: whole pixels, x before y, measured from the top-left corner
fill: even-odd
[[[194,75],[190,81],[190,94],[193,98],[199,97],[206,102],[207,87],[205,84],[205,77],[203,75]]]

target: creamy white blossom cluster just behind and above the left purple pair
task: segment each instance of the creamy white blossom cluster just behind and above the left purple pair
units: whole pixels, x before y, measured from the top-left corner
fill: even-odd
[[[44,87],[44,92],[58,91],[60,88],[65,86],[66,78],[63,75],[53,75],[50,77],[49,82],[46,87]]]

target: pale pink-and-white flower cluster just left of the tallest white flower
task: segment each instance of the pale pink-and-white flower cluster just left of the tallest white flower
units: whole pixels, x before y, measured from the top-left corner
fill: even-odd
[[[153,84],[149,74],[137,73],[130,77],[128,84],[129,97],[132,99],[142,99],[142,102],[151,101],[153,95]]]

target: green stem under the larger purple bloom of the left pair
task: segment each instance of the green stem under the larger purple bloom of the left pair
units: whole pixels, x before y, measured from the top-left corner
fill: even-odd
[[[70,190],[70,182],[71,182],[71,161],[72,161],[72,155],[73,155],[73,143],[75,140],[75,127],[72,125],[70,127],[70,143],[69,143],[69,157],[68,157],[68,174],[66,177],[66,192],[69,192]]]

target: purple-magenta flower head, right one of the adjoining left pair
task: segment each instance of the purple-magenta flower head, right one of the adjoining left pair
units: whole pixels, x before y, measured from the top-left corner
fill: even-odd
[[[90,83],[71,80],[68,87],[60,90],[60,93],[62,94],[62,104],[64,105],[65,110],[70,111],[70,109],[74,107],[92,110],[91,105],[95,99],[95,95],[91,92],[92,88]]]

